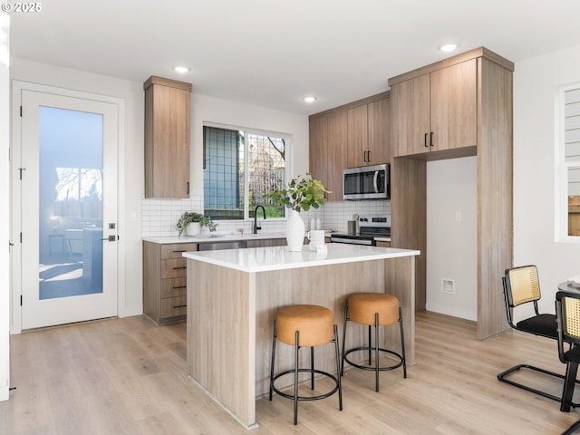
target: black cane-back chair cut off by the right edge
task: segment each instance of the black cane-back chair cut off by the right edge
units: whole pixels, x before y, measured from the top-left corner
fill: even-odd
[[[560,411],[568,412],[575,406],[572,396],[580,363],[580,292],[556,293],[556,318],[558,356],[566,364]]]

